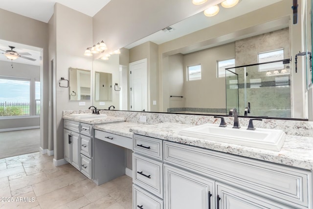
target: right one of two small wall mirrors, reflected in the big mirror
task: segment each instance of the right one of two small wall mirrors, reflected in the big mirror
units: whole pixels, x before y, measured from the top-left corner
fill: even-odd
[[[112,100],[112,73],[95,71],[95,101]]]

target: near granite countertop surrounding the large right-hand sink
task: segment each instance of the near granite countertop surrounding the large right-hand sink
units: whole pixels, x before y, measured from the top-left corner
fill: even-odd
[[[206,139],[185,137],[178,134],[181,129],[192,126],[193,125],[165,122],[154,125],[134,126],[130,128],[130,131],[134,134],[157,139],[313,170],[313,139],[311,137],[287,135],[282,149],[277,152]]]

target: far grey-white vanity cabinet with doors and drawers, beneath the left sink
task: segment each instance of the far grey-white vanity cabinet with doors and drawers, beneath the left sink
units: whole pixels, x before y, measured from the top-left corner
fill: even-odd
[[[64,120],[64,159],[91,179],[92,126]]]

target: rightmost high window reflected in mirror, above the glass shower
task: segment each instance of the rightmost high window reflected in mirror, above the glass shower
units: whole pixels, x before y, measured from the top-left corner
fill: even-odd
[[[258,63],[265,63],[265,62],[271,62],[271,61],[283,60],[283,59],[284,59],[283,48],[258,53]],[[259,65],[259,72],[264,72],[268,70],[282,70],[282,69],[284,69],[283,62]]]

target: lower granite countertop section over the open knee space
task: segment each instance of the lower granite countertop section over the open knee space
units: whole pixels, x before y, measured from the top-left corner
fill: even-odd
[[[130,132],[131,128],[144,128],[147,125],[132,123],[132,122],[117,122],[103,125],[95,125],[93,129],[99,131],[109,132],[111,134],[120,135],[123,137],[133,138],[133,132]]]

